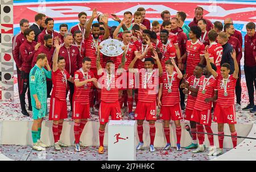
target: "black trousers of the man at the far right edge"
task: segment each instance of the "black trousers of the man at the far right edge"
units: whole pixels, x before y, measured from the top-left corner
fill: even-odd
[[[245,69],[245,80],[249,94],[250,105],[254,105],[254,88],[256,90],[256,66],[249,67],[244,66]],[[253,87],[254,84],[254,87]]]

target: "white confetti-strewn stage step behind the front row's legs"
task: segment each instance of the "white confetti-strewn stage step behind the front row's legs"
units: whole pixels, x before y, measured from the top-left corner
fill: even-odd
[[[246,106],[247,95],[246,95],[246,85],[245,77],[242,76],[242,107]],[[15,90],[17,85],[15,84]],[[49,103],[49,101],[48,101]],[[69,103],[68,103],[69,104]],[[127,120],[127,116],[123,117],[123,120]],[[240,111],[237,113],[237,134],[239,136],[247,136],[251,131],[253,123],[255,122],[255,116],[249,111]],[[185,130],[184,126],[188,124],[188,121],[181,121],[182,134],[181,134],[181,147],[185,147],[191,143],[191,137],[189,133]],[[0,104],[0,144],[5,145],[31,145],[31,126],[32,118],[24,117],[20,113],[18,94],[15,91],[13,101],[2,101]],[[97,146],[98,141],[98,115],[92,115],[89,122],[85,126],[85,130],[82,133],[81,140],[88,146]],[[42,141],[46,144],[53,145],[53,135],[52,135],[52,122],[48,121],[48,117],[44,119],[42,126]],[[212,123],[212,130],[217,133],[217,123]],[[229,127],[225,126],[225,134],[230,134]],[[150,142],[149,127],[148,123],[144,122],[144,145],[147,147]],[[175,126],[171,122],[171,143],[172,147],[175,147]],[[68,145],[72,145],[74,141],[73,136],[73,121],[69,117],[65,119],[63,125],[63,134],[61,135],[61,140]],[[137,137],[138,140],[138,137]],[[243,139],[238,139],[238,144],[241,143]],[[108,143],[108,127],[105,130],[105,140],[104,145]],[[214,143],[218,147],[218,138],[214,136]],[[162,121],[156,121],[156,137],[155,137],[155,147],[164,147],[166,145],[166,140],[164,139],[163,133],[163,123]],[[205,145],[208,147],[208,139],[205,136]],[[224,148],[232,148],[232,141],[230,137],[225,137]]]

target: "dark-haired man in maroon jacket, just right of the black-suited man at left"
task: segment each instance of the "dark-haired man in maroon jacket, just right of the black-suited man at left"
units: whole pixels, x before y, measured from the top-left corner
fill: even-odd
[[[38,42],[40,42],[42,45],[44,44],[44,35],[49,34],[52,36],[53,40],[55,38],[59,38],[59,33],[56,31],[53,31],[54,27],[54,20],[52,18],[46,18],[46,28],[38,35]]]

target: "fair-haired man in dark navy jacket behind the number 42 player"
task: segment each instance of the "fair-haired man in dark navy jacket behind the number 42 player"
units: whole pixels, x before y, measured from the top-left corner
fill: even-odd
[[[233,58],[231,57],[231,53],[233,50],[232,45],[228,43],[228,35],[226,32],[220,32],[218,33],[217,41],[219,44],[222,45],[223,51],[222,51],[222,57],[221,57],[221,65],[223,63],[229,63],[230,65],[230,72],[229,74],[233,74],[234,72],[234,61]]]

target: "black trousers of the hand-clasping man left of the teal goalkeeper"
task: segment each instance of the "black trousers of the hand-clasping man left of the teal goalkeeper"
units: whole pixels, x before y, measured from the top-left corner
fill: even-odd
[[[29,85],[29,73],[26,73],[24,71],[21,71],[20,74],[20,89],[19,89],[19,100],[20,100],[20,107],[23,111],[26,111],[26,102],[25,102],[25,96],[27,92],[27,98],[28,98],[28,108],[32,109],[31,105],[31,97],[30,97],[30,85]]]

